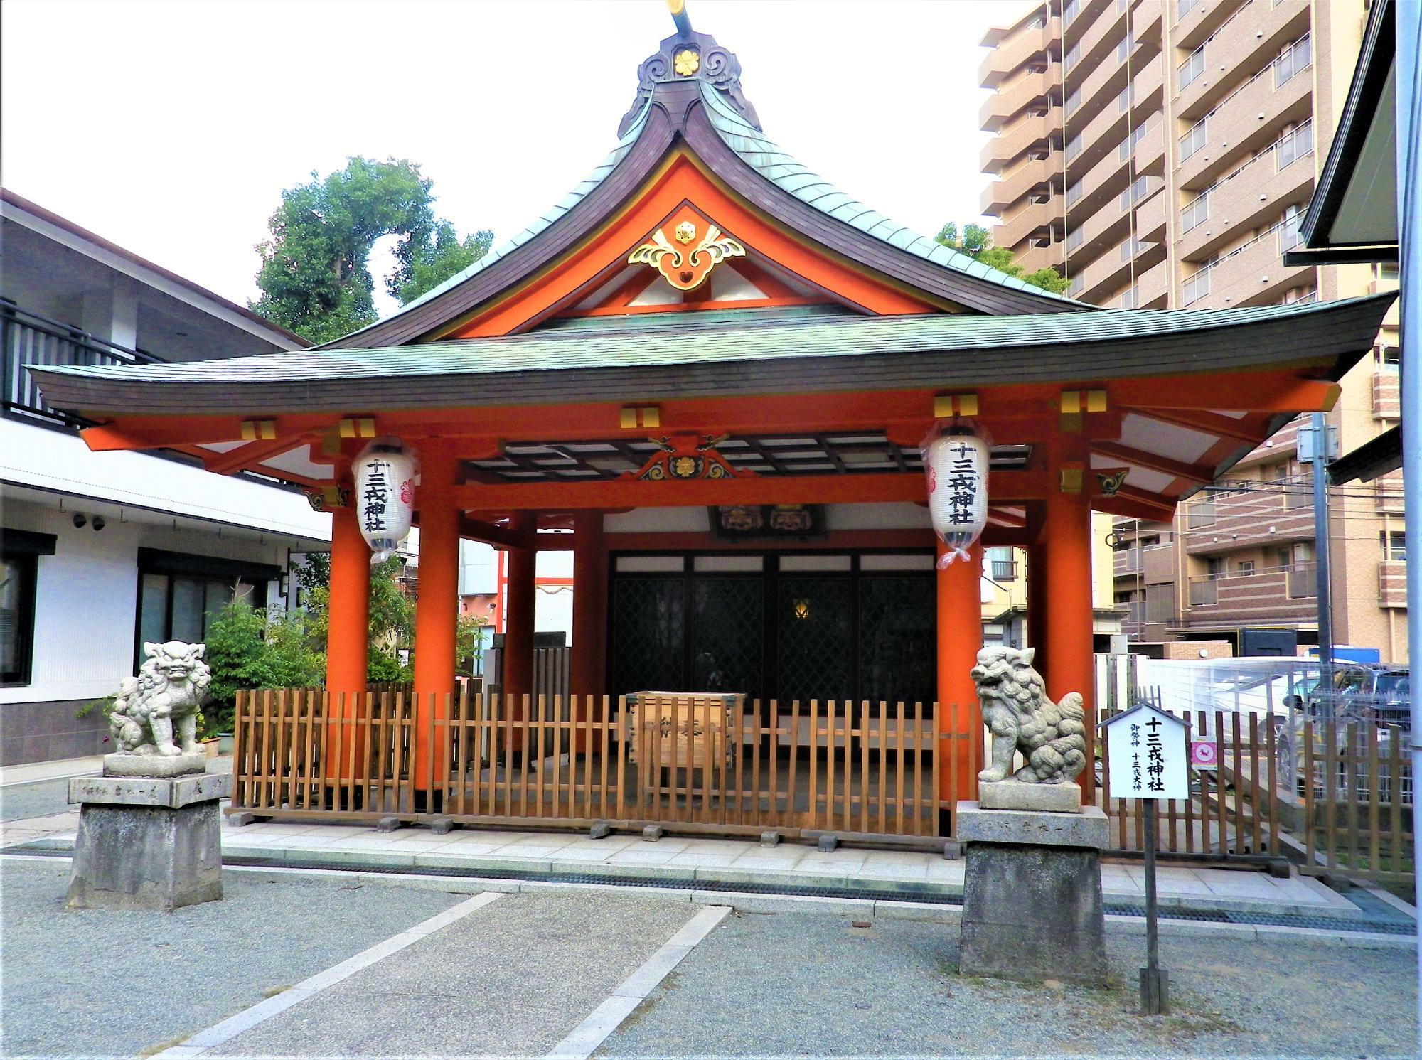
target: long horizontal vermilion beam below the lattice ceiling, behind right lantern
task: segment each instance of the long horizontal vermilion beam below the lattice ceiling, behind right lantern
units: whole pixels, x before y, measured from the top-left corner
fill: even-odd
[[[1024,502],[1047,493],[1045,472],[993,472],[988,496],[995,503]],[[702,507],[715,504],[883,504],[921,502],[921,475],[755,475],[735,479],[664,479],[646,482],[546,482],[456,486],[464,510],[573,512],[610,507]]]

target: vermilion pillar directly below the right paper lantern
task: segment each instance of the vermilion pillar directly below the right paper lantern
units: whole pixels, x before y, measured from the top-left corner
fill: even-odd
[[[943,556],[939,543],[939,556]],[[983,756],[983,715],[970,672],[983,647],[983,544],[937,573],[939,799],[971,799]],[[944,739],[946,737],[946,739]],[[948,767],[948,759],[953,767]]]

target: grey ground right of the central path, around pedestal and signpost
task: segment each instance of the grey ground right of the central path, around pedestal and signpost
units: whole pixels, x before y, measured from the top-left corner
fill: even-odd
[[[643,1056],[1415,1057],[1406,949],[1166,936],[1173,1013],[1142,1017],[1145,938],[1108,989],[957,973],[956,928],[734,912],[603,1043]]]

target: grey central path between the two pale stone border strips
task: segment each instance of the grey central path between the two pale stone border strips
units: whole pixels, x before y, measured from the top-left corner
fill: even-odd
[[[540,1056],[693,912],[613,892],[508,895],[210,1056]]]

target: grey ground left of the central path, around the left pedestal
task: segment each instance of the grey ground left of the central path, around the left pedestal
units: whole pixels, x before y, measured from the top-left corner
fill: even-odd
[[[65,911],[68,880],[68,860],[0,858],[0,1056],[151,1051],[468,898],[223,872],[220,902]]]

